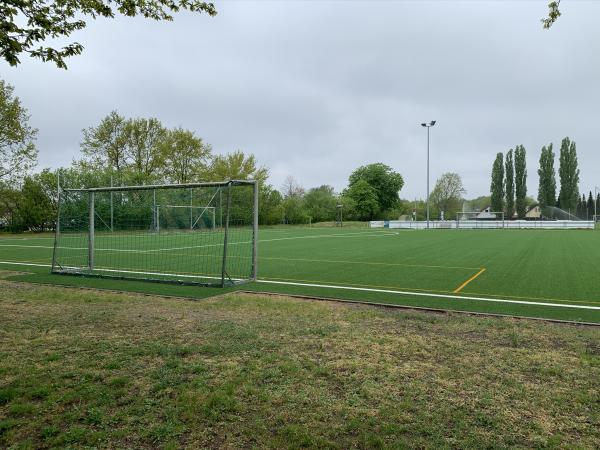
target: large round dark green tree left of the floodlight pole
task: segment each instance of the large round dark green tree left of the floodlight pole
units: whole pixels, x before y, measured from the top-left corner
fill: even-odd
[[[402,175],[394,172],[391,167],[385,164],[369,164],[356,169],[350,175],[348,189],[351,189],[359,181],[364,181],[373,188],[378,210],[391,209],[400,201],[398,194],[404,186],[404,179]],[[359,191],[366,192],[364,186]]]

